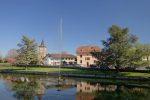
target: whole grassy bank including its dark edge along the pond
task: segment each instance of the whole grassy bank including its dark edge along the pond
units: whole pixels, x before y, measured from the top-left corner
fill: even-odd
[[[59,74],[60,71],[60,74]],[[74,68],[24,68],[14,67],[9,64],[0,64],[0,73],[17,73],[17,74],[33,74],[33,75],[51,75],[63,77],[81,77],[81,78],[106,78],[120,80],[147,80],[150,81],[150,73],[140,72],[112,72],[112,71],[96,71]]]

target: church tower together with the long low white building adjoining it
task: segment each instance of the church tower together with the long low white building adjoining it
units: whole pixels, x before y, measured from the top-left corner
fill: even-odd
[[[39,45],[38,59],[40,61],[40,64],[48,65],[48,66],[57,66],[63,63],[67,65],[76,64],[76,56],[72,54],[67,54],[67,53],[48,54],[43,40]]]

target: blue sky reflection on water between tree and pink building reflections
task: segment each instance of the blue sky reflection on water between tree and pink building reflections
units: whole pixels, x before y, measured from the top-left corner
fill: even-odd
[[[57,91],[57,88],[50,88],[45,91],[43,100],[75,100],[76,88],[68,88]],[[37,99],[37,97],[36,97]]]

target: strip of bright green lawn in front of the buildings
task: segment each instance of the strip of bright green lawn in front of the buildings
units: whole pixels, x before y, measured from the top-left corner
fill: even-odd
[[[29,71],[29,72],[51,72],[51,73],[58,73],[59,68],[41,68],[41,67],[31,67],[27,68],[24,67],[15,67],[11,66],[10,64],[0,63],[0,71],[2,70],[9,70],[15,72],[21,71]],[[112,76],[142,76],[142,77],[150,77],[150,73],[139,73],[139,72],[112,72],[112,71],[92,71],[92,70],[82,70],[82,69],[71,69],[71,68],[60,68],[61,73],[74,73],[74,74],[87,74],[87,75],[112,75]]]

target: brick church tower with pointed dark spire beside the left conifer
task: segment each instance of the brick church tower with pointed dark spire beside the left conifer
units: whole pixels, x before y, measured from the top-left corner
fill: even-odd
[[[46,56],[46,46],[44,41],[42,40],[41,44],[39,45],[39,50],[38,50],[38,57],[39,60],[42,60],[42,58],[44,58]]]

